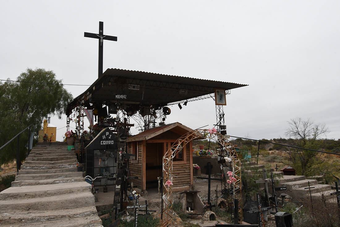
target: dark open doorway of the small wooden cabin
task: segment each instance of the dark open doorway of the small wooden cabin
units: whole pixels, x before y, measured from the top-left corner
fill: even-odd
[[[162,176],[164,143],[146,144],[146,188],[157,188]]]

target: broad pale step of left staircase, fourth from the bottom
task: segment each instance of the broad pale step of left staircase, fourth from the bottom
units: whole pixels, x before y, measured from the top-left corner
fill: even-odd
[[[53,185],[10,187],[0,192],[0,200],[13,200],[15,202],[18,199],[57,196],[90,191],[91,185],[86,181]]]

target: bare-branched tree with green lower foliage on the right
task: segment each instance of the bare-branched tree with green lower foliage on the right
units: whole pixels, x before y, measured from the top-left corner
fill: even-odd
[[[315,124],[310,119],[294,118],[288,122],[288,125],[285,135],[290,139],[287,140],[287,143],[302,148],[319,150],[323,145],[321,137],[328,133],[328,128],[325,125]],[[286,149],[284,152],[286,161],[282,162],[291,165],[297,174],[301,175],[306,175],[308,168],[320,155],[318,152],[295,148]]]

